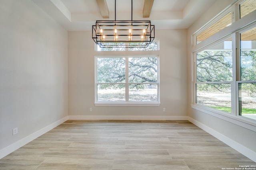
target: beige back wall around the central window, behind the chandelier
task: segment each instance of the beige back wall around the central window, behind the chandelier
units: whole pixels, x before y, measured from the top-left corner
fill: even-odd
[[[156,30],[160,51],[160,106],[94,106],[94,56],[138,55],[94,51],[91,31],[68,32],[68,109],[71,119],[187,119],[186,29]],[[89,111],[89,108],[92,111]],[[163,112],[166,108],[166,112]]]

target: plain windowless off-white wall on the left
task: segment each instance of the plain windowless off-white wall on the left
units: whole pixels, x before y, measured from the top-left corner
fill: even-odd
[[[68,32],[30,0],[1,0],[0,152],[68,115],[67,75]]]

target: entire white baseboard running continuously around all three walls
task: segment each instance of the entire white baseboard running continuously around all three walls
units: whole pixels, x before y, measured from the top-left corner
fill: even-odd
[[[20,141],[17,141],[16,143],[13,143],[12,145],[9,145],[8,147],[5,147],[4,149],[0,150],[0,159],[4,156],[10,154],[14,150],[19,149],[20,147],[26,145],[30,141],[36,139],[37,137],[43,135],[44,133],[50,131],[54,127],[60,125],[61,123],[67,121],[67,120],[188,120],[194,125],[200,127],[207,133],[210,133],[220,141],[226,143],[233,149],[237,150],[238,152],[244,154],[254,162],[256,162],[256,152],[253,152],[252,150],[244,147],[243,145],[233,141],[232,139],[229,139],[228,137],[222,135],[221,133],[215,131],[214,129],[204,125],[203,123],[196,121],[195,119],[192,119],[188,116],[84,116],[84,115],[73,115],[73,116],[66,116],[46,127],[43,129],[40,129],[39,131],[36,131],[35,133],[32,133],[31,135],[28,135],[27,137],[21,139]]]

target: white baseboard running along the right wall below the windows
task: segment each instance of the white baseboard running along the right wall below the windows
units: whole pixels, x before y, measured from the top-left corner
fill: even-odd
[[[253,160],[254,162],[256,162],[256,152],[244,147],[240,143],[237,143],[236,141],[233,141],[232,139],[226,137],[225,135],[222,135],[218,131],[215,131],[214,129],[204,125],[203,123],[201,123],[201,122],[199,122],[199,121],[197,121],[197,120],[195,120],[191,117],[188,117],[188,121],[190,121],[194,125],[200,127],[201,129],[203,129],[207,133],[211,134],[212,136],[216,137],[220,141],[226,143],[228,146],[230,146],[233,149],[237,150],[238,152],[242,153],[244,156],[246,156],[246,157],[250,158],[251,160]]]

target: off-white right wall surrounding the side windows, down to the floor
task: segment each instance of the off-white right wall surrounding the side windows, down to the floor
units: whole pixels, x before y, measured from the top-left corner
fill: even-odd
[[[216,117],[218,114],[208,114],[206,111],[193,109],[191,107],[193,98],[193,48],[191,44],[191,35],[233,2],[234,0],[218,0],[188,29],[188,117],[192,123],[195,123],[231,147],[234,147],[242,154],[245,154],[256,161],[256,132],[249,130],[250,128],[255,129],[255,126],[247,126],[246,123],[241,123],[229,117]],[[246,125],[247,127],[242,127],[243,125]]]

